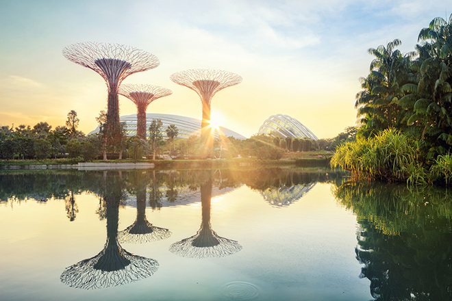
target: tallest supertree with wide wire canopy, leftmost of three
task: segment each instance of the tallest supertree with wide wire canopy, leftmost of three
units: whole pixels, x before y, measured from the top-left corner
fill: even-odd
[[[107,125],[110,135],[119,132],[118,87],[129,75],[159,66],[155,55],[121,44],[82,42],[63,49],[66,59],[99,73],[108,86]]]

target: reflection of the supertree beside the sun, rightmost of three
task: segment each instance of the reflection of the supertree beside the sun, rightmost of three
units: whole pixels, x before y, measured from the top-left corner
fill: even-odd
[[[201,228],[192,237],[172,244],[169,250],[181,257],[225,257],[242,250],[238,241],[221,237],[210,225],[210,201],[212,199],[212,174],[201,184]]]

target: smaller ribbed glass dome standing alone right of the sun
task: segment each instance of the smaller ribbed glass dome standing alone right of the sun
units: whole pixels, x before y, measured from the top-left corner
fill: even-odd
[[[258,134],[268,134],[282,138],[290,137],[318,140],[316,135],[297,119],[282,114],[270,116],[265,120],[259,128]]]

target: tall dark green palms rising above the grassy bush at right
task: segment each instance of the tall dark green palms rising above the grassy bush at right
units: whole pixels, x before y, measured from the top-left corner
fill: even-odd
[[[434,18],[418,41],[406,54],[396,49],[397,39],[368,49],[375,59],[356,96],[358,135],[398,129],[434,161],[452,148],[452,15],[448,21]]]

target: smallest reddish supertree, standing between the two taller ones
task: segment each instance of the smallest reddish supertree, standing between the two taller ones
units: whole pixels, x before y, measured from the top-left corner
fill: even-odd
[[[146,109],[156,99],[171,95],[171,90],[151,85],[124,84],[118,89],[118,93],[133,101],[137,108],[136,132],[146,140]]]

